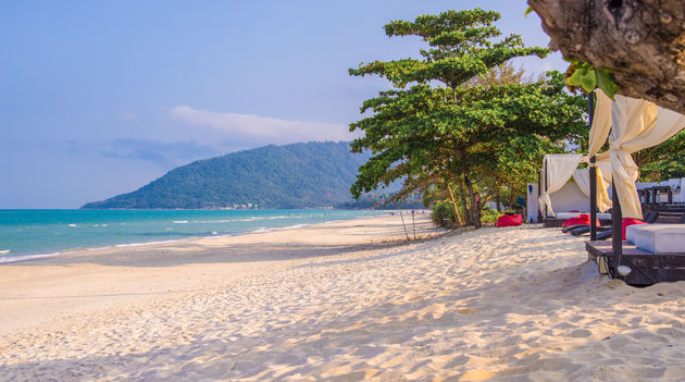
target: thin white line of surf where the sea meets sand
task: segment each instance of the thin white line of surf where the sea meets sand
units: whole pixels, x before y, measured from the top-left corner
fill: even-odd
[[[191,210],[184,210],[184,211],[191,211]],[[202,210],[202,211],[204,211],[204,210]],[[264,211],[267,211],[267,210],[264,210]],[[277,211],[281,211],[281,210],[277,210]],[[283,210],[283,211],[288,211],[288,210]],[[336,210],[334,210],[334,211],[336,211]],[[347,211],[347,210],[339,210],[339,211]],[[108,249],[126,248],[126,247],[149,246],[149,245],[158,245],[158,244],[160,244],[160,245],[161,244],[173,244],[173,243],[180,243],[180,242],[192,242],[192,241],[198,241],[198,239],[223,238],[223,237],[233,237],[233,236],[240,236],[240,235],[252,235],[252,234],[269,233],[269,232],[274,232],[274,231],[279,231],[279,230],[292,230],[292,229],[306,227],[306,226],[317,225],[317,224],[327,224],[327,223],[342,222],[342,221],[353,221],[353,220],[359,220],[359,219],[381,218],[381,217],[389,215],[395,210],[374,210],[374,211],[378,211],[378,212],[381,212],[381,214],[378,217],[357,217],[357,218],[351,218],[351,219],[334,219],[334,220],[329,220],[329,221],[325,221],[325,222],[302,223],[302,224],[294,224],[294,225],[282,226],[282,227],[273,227],[273,229],[260,227],[260,229],[256,229],[253,231],[237,232],[237,233],[221,234],[221,235],[178,237],[178,238],[169,239],[169,241],[107,244],[107,245],[94,246],[94,247],[74,247],[74,248],[67,248],[67,249],[62,249],[62,250],[52,251],[52,252],[23,254],[23,255],[16,255],[16,256],[10,255],[11,251],[9,251],[9,250],[7,252],[0,251],[0,267],[2,267],[3,264],[8,264],[8,263],[24,262],[24,261],[40,261],[40,260],[50,259],[50,258],[54,258],[54,257],[68,256],[68,255],[89,252],[89,251],[108,250]],[[421,210],[421,211],[428,211],[428,210]],[[176,221],[174,221],[173,223],[176,223]]]

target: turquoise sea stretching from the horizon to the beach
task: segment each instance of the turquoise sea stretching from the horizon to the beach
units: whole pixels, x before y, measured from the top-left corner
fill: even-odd
[[[238,235],[377,210],[0,210],[0,263],[75,250]]]

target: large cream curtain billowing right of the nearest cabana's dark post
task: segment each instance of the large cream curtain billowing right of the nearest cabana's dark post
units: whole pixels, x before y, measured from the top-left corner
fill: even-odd
[[[637,165],[632,152],[657,146],[685,127],[685,115],[642,99],[616,95],[609,137],[612,178],[624,218],[643,219]],[[600,145],[601,146],[601,145]]]

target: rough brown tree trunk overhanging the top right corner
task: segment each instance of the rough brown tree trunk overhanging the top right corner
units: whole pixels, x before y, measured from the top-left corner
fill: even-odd
[[[619,94],[685,114],[684,0],[528,0],[564,57],[614,71]]]

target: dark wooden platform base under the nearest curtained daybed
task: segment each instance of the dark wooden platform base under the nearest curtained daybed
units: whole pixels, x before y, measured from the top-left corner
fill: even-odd
[[[600,272],[606,268],[612,278],[620,276],[619,266],[627,266],[633,271],[624,279],[626,284],[646,286],[660,282],[685,280],[685,252],[651,254],[623,242],[621,263],[619,256],[611,252],[611,242],[586,242],[588,257],[595,260]]]

